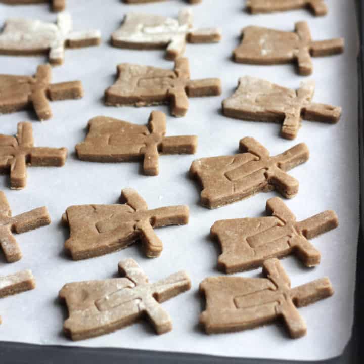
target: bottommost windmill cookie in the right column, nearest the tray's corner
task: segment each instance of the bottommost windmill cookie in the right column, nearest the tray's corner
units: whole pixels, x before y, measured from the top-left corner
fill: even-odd
[[[200,284],[206,310],[200,323],[206,333],[252,329],[283,319],[292,338],[306,335],[307,328],[297,308],[334,294],[328,278],[291,288],[291,281],[278,259],[263,263],[266,278],[209,277]]]

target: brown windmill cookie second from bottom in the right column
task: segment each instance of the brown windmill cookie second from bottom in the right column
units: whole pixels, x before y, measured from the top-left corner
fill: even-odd
[[[268,258],[295,254],[306,266],[320,264],[320,252],[308,241],[335,229],[339,222],[334,211],[324,211],[303,221],[279,198],[266,202],[268,217],[216,221],[211,237],[222,249],[218,266],[234,273],[261,266]]]

